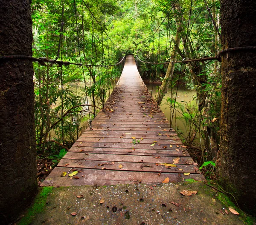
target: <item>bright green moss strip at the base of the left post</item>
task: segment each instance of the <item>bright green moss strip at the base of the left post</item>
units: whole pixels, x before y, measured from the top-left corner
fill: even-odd
[[[44,212],[47,196],[52,191],[53,187],[41,188],[38,195],[35,197],[34,203],[27,210],[25,216],[20,219],[17,225],[29,225],[35,216],[39,213]]]

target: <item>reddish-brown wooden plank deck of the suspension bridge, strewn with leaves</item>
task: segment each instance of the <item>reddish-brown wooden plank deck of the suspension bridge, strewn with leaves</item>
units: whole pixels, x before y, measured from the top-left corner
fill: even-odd
[[[169,182],[204,180],[151,100],[133,56],[126,57],[119,84],[105,109],[93,120],[93,130],[83,132],[41,186],[148,184],[163,182],[166,177]],[[175,167],[160,163],[175,163]],[[61,177],[64,171],[67,175]],[[78,171],[77,179],[68,176],[73,171]]]

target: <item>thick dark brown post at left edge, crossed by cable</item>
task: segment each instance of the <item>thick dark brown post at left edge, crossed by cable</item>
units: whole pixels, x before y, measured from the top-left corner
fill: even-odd
[[[0,55],[32,55],[30,0],[0,0]],[[8,224],[38,191],[33,65],[0,61],[0,224]]]

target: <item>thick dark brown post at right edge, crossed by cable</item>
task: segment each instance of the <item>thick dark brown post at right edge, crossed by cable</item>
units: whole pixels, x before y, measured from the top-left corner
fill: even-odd
[[[221,0],[223,49],[256,46],[256,1]],[[256,213],[256,54],[222,55],[218,174],[241,208]]]

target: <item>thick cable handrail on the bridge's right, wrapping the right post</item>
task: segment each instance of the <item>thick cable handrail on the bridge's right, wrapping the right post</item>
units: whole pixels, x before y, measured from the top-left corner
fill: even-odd
[[[226,52],[230,52],[230,51],[244,51],[244,50],[256,51],[256,46],[227,48],[227,49],[223,49],[223,50],[219,51],[215,57],[205,57],[205,58],[198,58],[198,59],[191,59],[191,60],[183,59],[181,61],[175,61],[175,62],[171,61],[171,62],[165,62],[165,63],[146,62],[146,61],[141,60],[137,55],[135,55],[135,57],[137,58],[137,60],[139,60],[142,63],[159,64],[159,65],[170,64],[170,63],[203,62],[203,61],[210,61],[210,60],[218,60],[219,62],[221,62],[222,54],[224,54]]]

